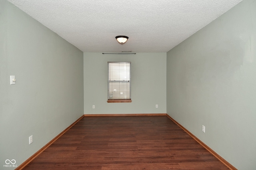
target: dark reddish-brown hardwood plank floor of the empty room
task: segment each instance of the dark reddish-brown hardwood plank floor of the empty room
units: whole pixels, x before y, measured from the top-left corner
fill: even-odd
[[[24,170],[227,170],[167,116],[84,117]]]

